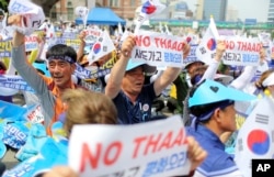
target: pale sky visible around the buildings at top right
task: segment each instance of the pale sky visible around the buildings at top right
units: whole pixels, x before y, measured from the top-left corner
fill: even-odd
[[[197,0],[184,0],[191,10],[195,10]],[[228,0],[228,5],[238,10],[239,19],[256,19],[258,22],[267,21],[270,0]],[[259,8],[260,7],[260,8]]]

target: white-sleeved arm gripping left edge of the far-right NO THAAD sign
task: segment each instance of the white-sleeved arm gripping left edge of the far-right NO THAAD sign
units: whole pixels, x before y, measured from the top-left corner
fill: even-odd
[[[204,79],[214,79],[214,76],[217,73],[217,69],[219,67],[220,60],[222,58],[222,55],[226,51],[226,44],[224,41],[218,41],[217,42],[217,48],[216,48],[216,55],[215,58],[212,60],[212,63],[209,64],[208,68],[206,69],[206,71],[204,73],[202,80]]]

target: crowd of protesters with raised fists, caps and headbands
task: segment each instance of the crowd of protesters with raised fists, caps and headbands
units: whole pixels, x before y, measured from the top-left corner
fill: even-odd
[[[21,15],[9,18],[9,25],[22,24]],[[187,63],[183,68],[167,67],[160,70],[145,62],[133,60],[130,54],[136,46],[134,34],[123,41],[119,41],[122,36],[113,40],[116,49],[90,65],[90,51],[85,48],[85,29],[77,30],[75,25],[67,29],[79,34],[78,49],[66,44],[48,46],[46,59],[39,58],[41,55],[34,59],[47,64],[44,69],[30,63],[31,54],[25,51],[26,36],[19,31],[14,31],[12,36],[10,65],[34,90],[23,91],[23,95],[26,104],[35,102],[41,106],[45,129],[43,136],[56,136],[53,130],[56,122],[62,123],[64,140],[69,142],[76,124],[128,125],[169,119],[153,112],[153,107],[160,107],[159,103],[164,100],[167,103],[163,106],[168,106],[172,113],[180,114],[185,125],[187,153],[192,163],[190,176],[242,176],[233,155],[226,152],[228,142],[236,141],[236,102],[246,101],[248,109],[244,113],[249,114],[259,99],[269,97],[273,101],[274,73],[270,67],[259,78],[255,77],[259,66],[246,66],[239,75],[232,75],[232,68],[222,63],[226,43],[218,40],[216,55],[209,65],[197,59]],[[42,53],[45,45],[45,33],[41,40],[38,53]],[[191,45],[185,41],[183,58],[189,56],[190,51]],[[266,62],[263,47],[258,55],[260,64]],[[115,64],[107,75],[90,79],[75,75],[79,66],[100,69],[112,58],[115,58]],[[8,68],[1,60],[0,74],[4,75]],[[48,75],[45,74],[46,70]],[[91,89],[88,85],[95,85],[100,89]],[[173,87],[171,92],[175,96],[168,96],[167,99],[162,95],[169,86]],[[13,103],[12,96],[0,96],[0,100]],[[26,144],[21,148],[18,157],[23,161],[39,153],[37,150],[31,156],[23,156]],[[56,166],[36,176],[76,177],[78,174],[68,166]]]

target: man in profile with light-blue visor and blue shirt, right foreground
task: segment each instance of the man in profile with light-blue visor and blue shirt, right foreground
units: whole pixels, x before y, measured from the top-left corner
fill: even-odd
[[[189,108],[195,119],[187,134],[195,137],[208,156],[194,176],[242,176],[231,155],[225,152],[220,135],[236,131],[235,101],[251,101],[254,96],[206,79],[190,92]]]

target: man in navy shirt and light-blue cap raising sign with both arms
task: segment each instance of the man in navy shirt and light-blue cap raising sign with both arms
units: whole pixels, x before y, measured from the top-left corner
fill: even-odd
[[[152,101],[182,70],[168,67],[152,84],[144,85],[144,73],[153,73],[156,68],[141,62],[134,63],[129,58],[134,46],[134,36],[124,41],[121,58],[112,68],[105,87],[106,96],[113,99],[118,110],[118,120],[122,124],[150,121]],[[190,53],[190,46],[186,44],[182,52],[185,58]]]

